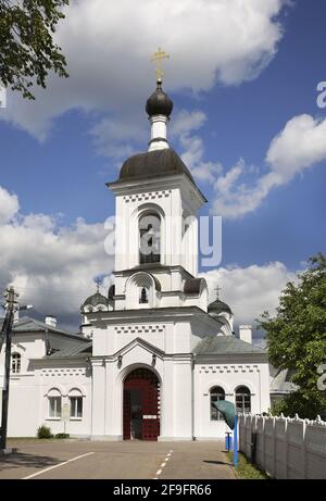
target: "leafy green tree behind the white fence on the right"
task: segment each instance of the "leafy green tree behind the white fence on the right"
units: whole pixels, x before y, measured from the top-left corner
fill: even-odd
[[[325,413],[326,390],[318,389],[318,367],[326,360],[326,256],[309,259],[298,283],[287,284],[276,316],[265,312],[259,326],[266,331],[269,362],[293,371],[297,391],[276,404],[276,413],[315,418]]]

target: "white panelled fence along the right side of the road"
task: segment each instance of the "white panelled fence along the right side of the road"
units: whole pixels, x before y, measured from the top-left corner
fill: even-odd
[[[298,416],[239,416],[239,449],[251,458],[256,434],[255,463],[273,478],[326,479],[326,422]]]

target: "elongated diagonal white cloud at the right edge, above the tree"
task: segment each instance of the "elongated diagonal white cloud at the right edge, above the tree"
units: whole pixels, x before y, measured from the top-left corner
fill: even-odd
[[[266,153],[268,172],[251,183],[246,177],[252,166],[240,159],[215,180],[212,212],[237,218],[253,212],[269,191],[285,185],[298,173],[326,160],[326,118],[303,114],[291,118],[272,140]]]

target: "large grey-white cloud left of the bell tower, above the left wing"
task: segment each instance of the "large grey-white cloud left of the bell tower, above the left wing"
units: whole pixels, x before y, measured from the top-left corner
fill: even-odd
[[[1,200],[16,202],[0,188]],[[2,195],[4,193],[4,195]],[[113,258],[104,252],[104,224],[87,224],[79,218],[62,227],[46,214],[14,214],[0,220],[0,286],[14,284],[22,303],[33,304],[34,314],[53,314],[61,325],[77,329],[79,306],[95,291],[93,278],[105,274],[109,286]],[[0,209],[1,213],[1,209]],[[15,215],[15,217],[13,217]]]

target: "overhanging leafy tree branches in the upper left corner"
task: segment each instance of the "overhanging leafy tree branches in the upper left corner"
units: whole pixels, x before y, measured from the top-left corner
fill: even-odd
[[[46,87],[49,71],[67,77],[66,61],[53,42],[68,0],[0,0],[0,83],[35,99],[36,83]]]

